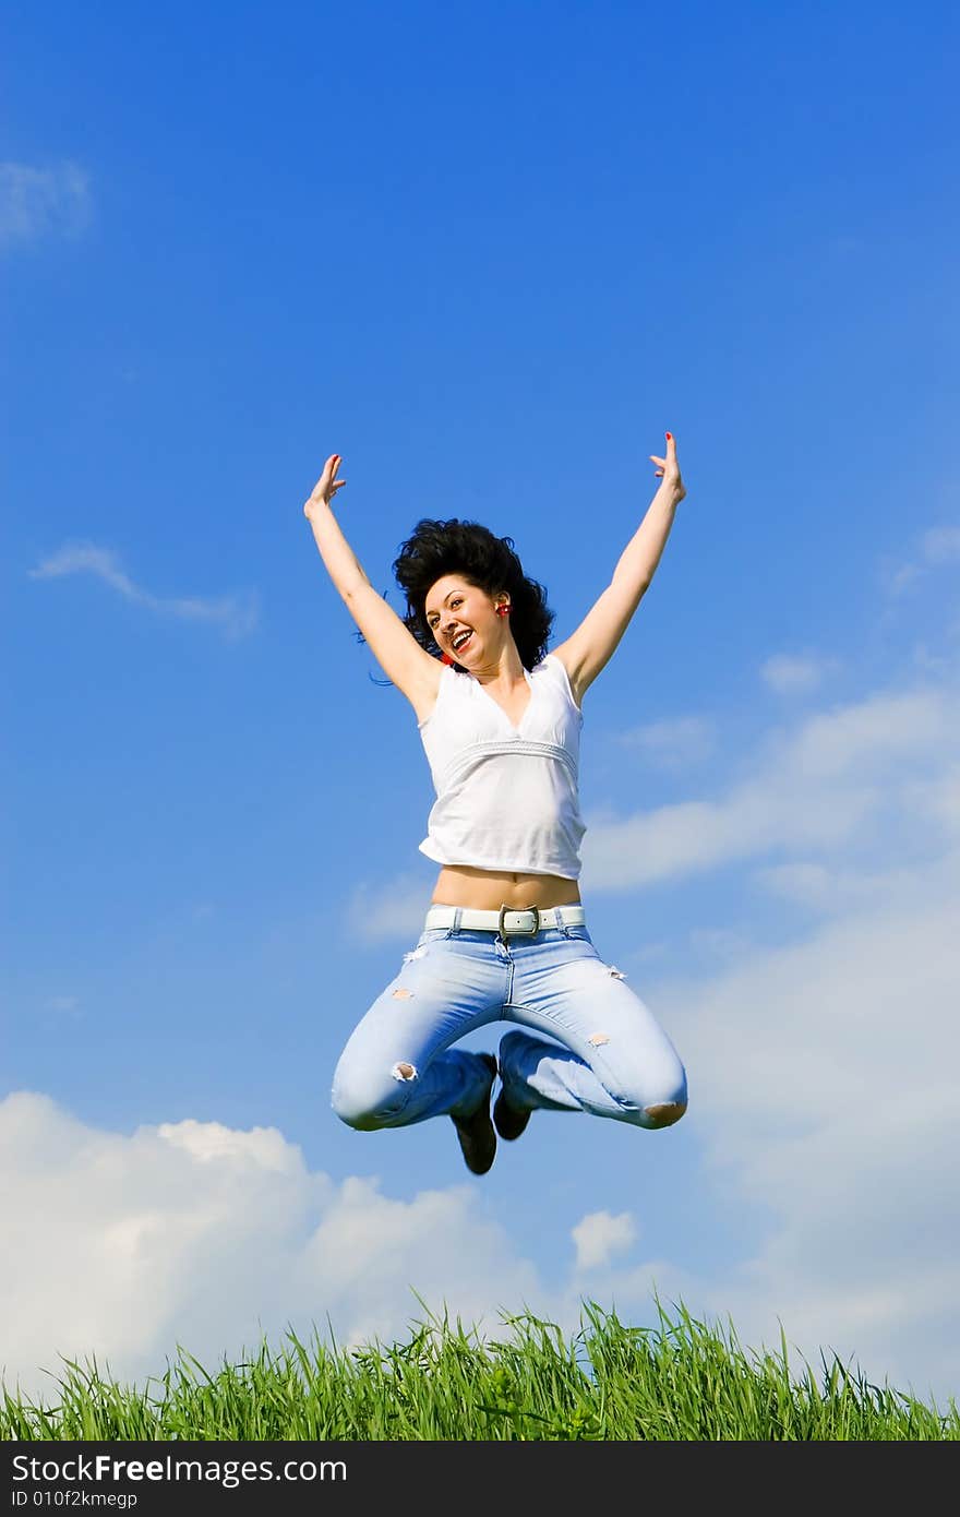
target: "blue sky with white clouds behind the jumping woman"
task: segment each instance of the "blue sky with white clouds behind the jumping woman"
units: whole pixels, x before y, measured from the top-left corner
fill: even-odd
[[[0,64],[0,1373],[651,1291],[957,1393],[957,20],[945,5],[17,8]],[[690,1110],[358,1135],[435,866],[364,569],[510,534],[576,627],[581,894]],[[470,1039],[494,1047],[500,1027]]]

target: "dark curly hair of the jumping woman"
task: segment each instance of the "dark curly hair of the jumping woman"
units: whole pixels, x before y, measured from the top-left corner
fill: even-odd
[[[520,663],[525,669],[534,669],[544,658],[555,613],[546,604],[543,586],[523,573],[513,537],[494,537],[479,522],[461,522],[458,517],[434,522],[425,517],[417,522],[406,542],[400,543],[393,573],[406,595],[403,622],[428,654],[440,655],[425,616],[428,590],[443,575],[458,573],[485,595],[507,590],[510,631]],[[461,666],[455,663],[453,667]]]

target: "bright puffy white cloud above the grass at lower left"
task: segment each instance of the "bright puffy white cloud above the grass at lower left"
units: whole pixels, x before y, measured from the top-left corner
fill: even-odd
[[[413,1289],[500,1327],[541,1296],[470,1185],[381,1195],[311,1173],[276,1129],[164,1123],[100,1132],[45,1095],[0,1103],[0,1377],[47,1394],[59,1358],[118,1379],[162,1373],[184,1344],[208,1367],[288,1326],[338,1343],[403,1336]],[[413,1289],[411,1289],[413,1288]]]

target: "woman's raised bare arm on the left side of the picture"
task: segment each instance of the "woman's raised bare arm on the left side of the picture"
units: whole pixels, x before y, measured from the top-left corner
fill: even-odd
[[[326,570],[370,645],[373,657],[420,715],[437,696],[440,660],[431,658],[426,649],[420,648],[393,607],[373,589],[340,531],[340,523],[331,511],[331,501],[347,481],[335,478],[338,469],[340,454],[331,454],[303,507],[303,516],[314,529],[314,540]]]

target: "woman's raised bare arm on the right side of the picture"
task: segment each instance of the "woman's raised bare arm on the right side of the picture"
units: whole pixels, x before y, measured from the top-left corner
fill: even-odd
[[[572,637],[554,649],[570,677],[578,704],[601,669],[613,658],[617,643],[649,589],[670,536],[676,507],[687,493],[676,463],[676,438],[670,432],[666,437],[666,458],[651,454],[651,461],[657,464],[660,488],[620,554],[610,586]]]

